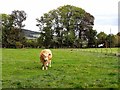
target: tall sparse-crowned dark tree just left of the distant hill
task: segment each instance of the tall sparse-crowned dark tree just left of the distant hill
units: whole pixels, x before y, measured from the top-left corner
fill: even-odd
[[[23,24],[23,21],[26,20],[27,14],[23,10],[14,10],[11,13],[11,17],[14,19],[13,26],[16,30],[14,33],[17,33],[15,36],[15,42],[19,42],[21,45],[23,45],[26,39],[22,33],[22,28],[25,26],[25,24]]]

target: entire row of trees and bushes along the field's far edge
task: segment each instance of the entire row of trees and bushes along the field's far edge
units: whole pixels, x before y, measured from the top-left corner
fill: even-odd
[[[95,48],[120,47],[120,32],[116,35],[93,30],[94,16],[82,8],[65,5],[36,19],[40,37],[29,40],[24,36],[25,11],[1,14],[2,47],[6,48]]]

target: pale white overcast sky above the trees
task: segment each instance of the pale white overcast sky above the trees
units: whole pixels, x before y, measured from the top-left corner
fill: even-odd
[[[0,13],[11,14],[13,10],[24,10],[27,19],[24,28],[39,31],[36,18],[44,13],[64,5],[73,5],[84,9],[95,17],[93,29],[107,34],[118,33],[119,0],[0,0]]]

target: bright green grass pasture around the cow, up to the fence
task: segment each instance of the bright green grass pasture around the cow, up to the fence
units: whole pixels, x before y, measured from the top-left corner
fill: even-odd
[[[51,50],[52,67],[42,71],[41,49],[2,49],[3,88],[118,88],[117,56],[88,49]]]

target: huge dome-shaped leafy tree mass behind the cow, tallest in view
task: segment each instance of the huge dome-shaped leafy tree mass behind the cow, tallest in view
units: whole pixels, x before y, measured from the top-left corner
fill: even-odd
[[[37,22],[45,47],[82,47],[82,42],[87,40],[86,31],[92,30],[94,17],[82,8],[65,5],[45,13]],[[76,45],[75,41],[81,45]]]

